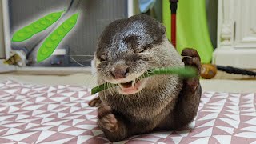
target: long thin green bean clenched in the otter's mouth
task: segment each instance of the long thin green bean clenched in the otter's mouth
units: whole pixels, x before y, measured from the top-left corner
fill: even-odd
[[[147,77],[151,77],[159,74],[178,74],[178,76],[182,78],[193,78],[197,76],[197,70],[195,70],[194,67],[190,67],[190,66],[186,66],[183,68],[179,68],[179,67],[158,68],[154,70],[147,70],[147,72],[142,74],[142,76],[140,76],[138,79],[147,78]],[[115,84],[115,85],[109,85],[108,83],[102,84],[100,86],[94,87],[91,90],[91,94],[96,94],[102,90],[106,90],[114,86],[118,86],[118,84]]]

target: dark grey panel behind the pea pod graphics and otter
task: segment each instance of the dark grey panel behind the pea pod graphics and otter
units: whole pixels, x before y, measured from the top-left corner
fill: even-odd
[[[70,0],[9,0],[9,2],[11,34],[43,15],[63,10],[70,4]],[[90,65],[99,34],[102,33],[106,25],[115,19],[126,18],[126,3],[126,0],[82,0],[78,7],[80,14],[77,26],[66,36],[58,48],[69,47],[72,58],[83,65]],[[42,38],[44,33],[46,30],[35,35],[29,41],[13,42],[13,45],[31,50],[34,43]],[[77,64],[70,62],[69,66],[77,66]]]

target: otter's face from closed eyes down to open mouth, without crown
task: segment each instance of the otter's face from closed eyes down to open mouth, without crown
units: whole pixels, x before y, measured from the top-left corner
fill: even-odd
[[[146,48],[137,50],[128,49],[118,54],[116,58],[106,54],[97,56],[96,66],[99,78],[118,84],[120,94],[135,94],[142,90],[146,86],[146,78],[138,78],[149,68],[147,54],[150,52]]]

